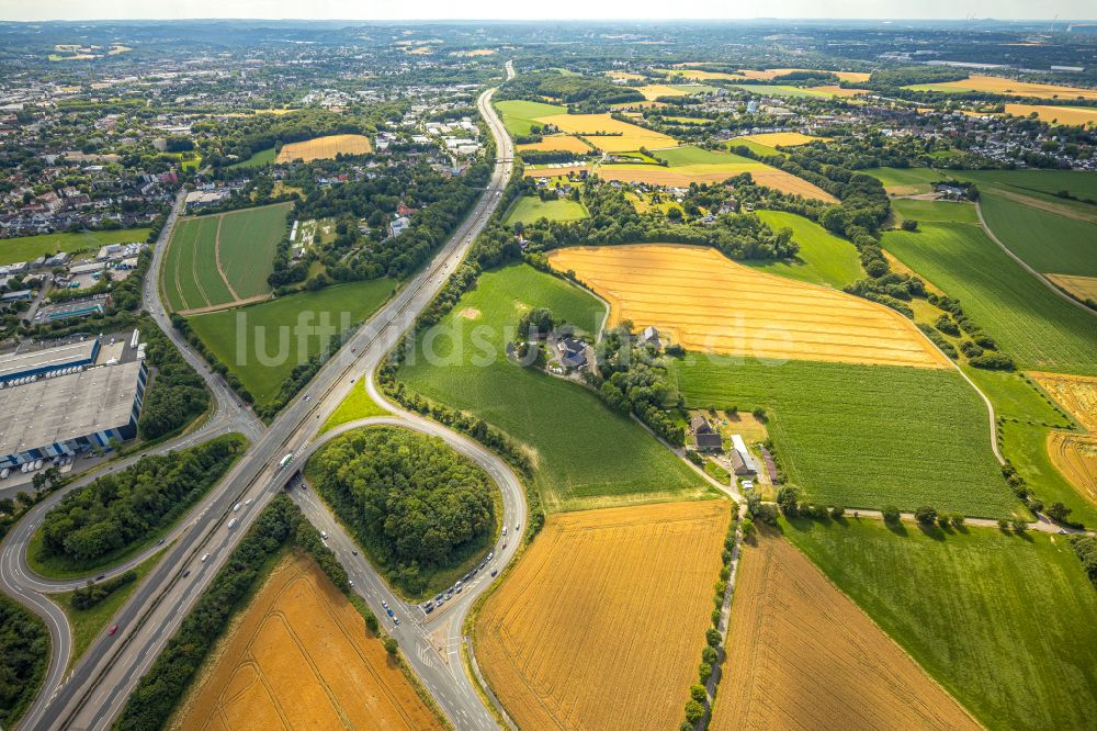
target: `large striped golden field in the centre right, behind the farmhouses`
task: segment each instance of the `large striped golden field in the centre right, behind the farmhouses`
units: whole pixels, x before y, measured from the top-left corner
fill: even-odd
[[[676,244],[572,247],[557,271],[610,303],[610,323],[654,325],[689,350],[774,360],[948,368],[905,317],[849,294],[765,274],[715,249]]]

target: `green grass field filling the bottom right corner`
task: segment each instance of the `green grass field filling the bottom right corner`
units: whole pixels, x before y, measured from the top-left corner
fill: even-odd
[[[1097,718],[1097,592],[1062,537],[875,520],[785,536],[991,729]]]

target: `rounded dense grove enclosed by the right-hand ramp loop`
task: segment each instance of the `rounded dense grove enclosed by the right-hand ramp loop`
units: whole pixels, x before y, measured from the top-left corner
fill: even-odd
[[[495,529],[491,483],[441,439],[395,428],[360,429],[309,463],[317,492],[410,594],[423,573],[459,563]]]

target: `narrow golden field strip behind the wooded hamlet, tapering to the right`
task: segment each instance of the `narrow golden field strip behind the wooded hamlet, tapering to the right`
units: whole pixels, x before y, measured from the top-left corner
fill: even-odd
[[[657,165],[602,165],[597,169],[602,180],[643,182],[651,185],[689,188],[691,182],[720,183],[742,172],[749,172],[759,185],[790,195],[803,195],[817,201],[837,203],[838,199],[803,178],[771,168],[761,162],[723,162],[720,165],[679,165],[664,168]]]

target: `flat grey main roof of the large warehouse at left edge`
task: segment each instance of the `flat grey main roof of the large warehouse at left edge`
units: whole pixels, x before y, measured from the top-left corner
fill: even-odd
[[[91,368],[0,389],[0,456],[129,423],[143,361]]]

